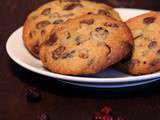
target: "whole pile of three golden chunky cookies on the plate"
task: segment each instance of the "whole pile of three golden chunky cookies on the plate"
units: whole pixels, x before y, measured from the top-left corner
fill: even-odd
[[[55,0],[28,16],[23,39],[32,55],[55,73],[95,74],[125,59],[118,66],[131,74],[148,74],[160,69],[159,16],[152,12],[126,24],[106,4]]]

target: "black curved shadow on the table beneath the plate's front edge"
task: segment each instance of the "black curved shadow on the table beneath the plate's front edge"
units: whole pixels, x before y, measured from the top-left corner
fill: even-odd
[[[160,95],[160,82],[130,88],[95,89],[62,83],[54,78],[30,72],[12,61],[10,62],[10,67],[13,74],[22,83],[25,83],[30,87],[38,87],[43,91],[56,94],[58,96],[122,99]]]

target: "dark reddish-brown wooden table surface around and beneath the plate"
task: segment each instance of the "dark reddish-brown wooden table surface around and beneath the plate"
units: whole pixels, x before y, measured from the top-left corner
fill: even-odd
[[[46,0],[0,1],[0,120],[35,120],[48,112],[51,120],[91,120],[92,113],[108,105],[127,120],[160,120],[160,83],[126,89],[89,89],[63,84],[27,71],[7,55],[9,35],[23,25],[29,12]],[[26,102],[26,88],[38,87],[43,99]]]

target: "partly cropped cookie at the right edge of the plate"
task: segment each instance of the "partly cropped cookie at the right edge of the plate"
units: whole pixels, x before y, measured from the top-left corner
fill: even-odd
[[[134,37],[134,49],[124,61],[130,74],[143,75],[160,70],[160,13],[149,12],[127,21]]]

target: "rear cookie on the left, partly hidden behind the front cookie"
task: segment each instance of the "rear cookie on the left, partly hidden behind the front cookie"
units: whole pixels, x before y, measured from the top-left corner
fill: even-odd
[[[120,20],[110,6],[84,0],[56,0],[32,12],[24,24],[23,40],[26,48],[39,57],[39,46],[58,24],[83,14],[104,14]]]

